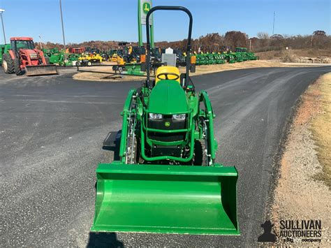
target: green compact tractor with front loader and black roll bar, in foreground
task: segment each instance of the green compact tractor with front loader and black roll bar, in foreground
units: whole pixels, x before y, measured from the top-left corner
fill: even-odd
[[[155,10],[189,15],[186,73],[160,66],[151,78],[149,16]],[[212,105],[189,77],[196,68],[190,59],[192,22],[184,7],[156,6],[147,13],[147,80],[128,92],[117,139],[105,140],[105,147],[119,143],[119,153],[117,161],[96,169],[93,232],[240,234],[237,170],[215,162]]]

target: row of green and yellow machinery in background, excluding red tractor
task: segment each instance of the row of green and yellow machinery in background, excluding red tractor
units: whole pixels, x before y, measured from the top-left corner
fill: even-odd
[[[50,64],[59,66],[92,66],[93,64],[102,64],[103,61],[114,62],[123,66],[124,64],[139,63],[140,55],[145,54],[144,47],[125,46],[125,43],[119,43],[120,48],[117,50],[102,51],[96,48],[77,48],[76,50],[59,50],[53,48],[51,50],[43,49],[45,56],[50,58]],[[122,47],[122,48],[121,48]],[[73,52],[70,52],[73,51]],[[75,51],[82,51],[75,53]],[[152,58],[161,62],[162,53],[165,49],[152,48]],[[186,54],[179,49],[173,50],[177,55],[177,66],[185,66]],[[258,57],[253,52],[247,52],[247,48],[235,48],[233,52],[230,49],[223,51],[212,52],[193,52],[196,56],[196,65],[208,64],[225,64],[235,63],[249,60],[256,60]]]

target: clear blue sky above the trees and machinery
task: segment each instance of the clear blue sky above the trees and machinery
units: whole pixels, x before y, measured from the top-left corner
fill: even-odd
[[[310,35],[331,33],[331,0],[153,0],[153,6],[185,6],[193,14],[193,38],[208,33],[260,31]],[[0,0],[7,42],[12,36],[31,36],[62,43],[59,0]],[[138,41],[138,0],[62,0],[66,43],[83,41]],[[186,38],[185,13],[154,14],[155,41]],[[0,29],[0,44],[3,43]]]

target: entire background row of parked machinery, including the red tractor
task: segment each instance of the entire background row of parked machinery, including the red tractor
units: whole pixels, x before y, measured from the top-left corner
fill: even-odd
[[[45,75],[57,73],[55,66],[92,66],[103,64],[104,61],[113,63],[113,70],[125,71],[124,74],[143,75],[140,71],[140,57],[146,54],[145,47],[133,46],[128,43],[119,43],[118,49],[102,51],[97,48],[58,48],[38,50],[34,46],[32,38],[10,38],[10,44],[0,45],[0,62],[5,73],[21,75]],[[226,48],[226,47],[224,47]],[[152,48],[151,58],[154,64],[162,64],[164,48]],[[186,53],[174,49],[176,64],[186,66]],[[196,65],[225,64],[249,60],[256,60],[253,52],[247,52],[247,48],[230,48],[223,50],[198,50],[191,56],[196,57]]]

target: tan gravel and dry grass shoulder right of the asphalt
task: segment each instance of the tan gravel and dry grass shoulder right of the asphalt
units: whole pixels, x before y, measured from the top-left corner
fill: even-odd
[[[330,247],[330,82],[331,73],[325,74],[302,95],[280,161],[272,205],[275,233],[281,231],[281,220],[321,220],[321,243],[294,238],[287,245]],[[280,244],[284,242],[279,240]]]

